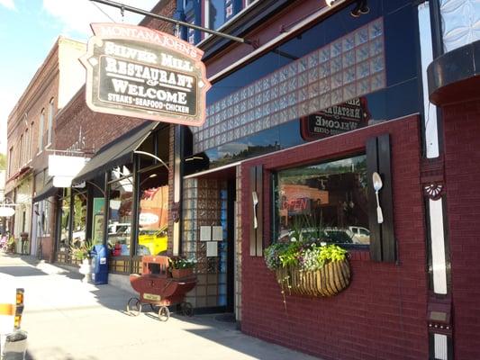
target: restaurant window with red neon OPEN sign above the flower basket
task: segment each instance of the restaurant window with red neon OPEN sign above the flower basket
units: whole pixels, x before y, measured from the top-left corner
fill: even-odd
[[[279,171],[274,189],[278,239],[370,243],[365,155]]]

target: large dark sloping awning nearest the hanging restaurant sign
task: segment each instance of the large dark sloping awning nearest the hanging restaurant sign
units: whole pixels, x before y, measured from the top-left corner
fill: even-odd
[[[113,169],[115,166],[122,166],[131,162],[133,151],[140,147],[141,143],[148,138],[160,122],[147,121],[132,129],[120,138],[113,140],[100,148],[95,156],[86,163],[86,166],[75,176],[72,184],[79,184],[91,180],[104,172]]]

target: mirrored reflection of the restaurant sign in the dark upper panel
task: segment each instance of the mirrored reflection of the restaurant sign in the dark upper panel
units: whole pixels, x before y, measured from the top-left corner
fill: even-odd
[[[356,130],[369,118],[367,99],[359,97],[300,118],[302,138],[311,141]]]

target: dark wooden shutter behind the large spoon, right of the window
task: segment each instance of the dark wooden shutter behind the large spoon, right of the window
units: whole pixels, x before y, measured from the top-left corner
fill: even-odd
[[[394,203],[392,196],[392,172],[389,134],[367,140],[368,220],[370,226],[370,258],[374,261],[396,261],[394,237]],[[383,187],[378,200],[384,214],[384,222],[376,218],[376,194],[372,175],[382,177]]]

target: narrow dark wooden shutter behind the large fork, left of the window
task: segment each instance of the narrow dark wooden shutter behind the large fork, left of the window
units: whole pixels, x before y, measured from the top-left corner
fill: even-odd
[[[257,229],[254,226],[254,211],[253,211],[253,196],[252,193],[257,193],[258,204],[256,207],[257,213]],[[250,256],[263,256],[263,166],[250,167],[250,193],[249,199],[249,213],[251,214],[250,221]]]

